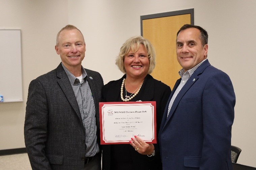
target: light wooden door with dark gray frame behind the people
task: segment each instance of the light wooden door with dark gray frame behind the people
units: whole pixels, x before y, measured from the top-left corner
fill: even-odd
[[[176,34],[184,24],[194,24],[193,17],[193,9],[141,16],[141,35],[152,43],[156,52],[156,66],[151,75],[171,89],[180,78],[181,69],[176,58]]]

